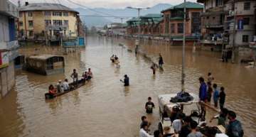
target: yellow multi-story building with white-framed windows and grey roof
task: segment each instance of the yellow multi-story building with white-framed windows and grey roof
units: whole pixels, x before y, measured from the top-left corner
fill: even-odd
[[[61,4],[26,2],[19,9],[19,38],[55,40],[60,35],[63,38],[75,38],[79,35],[78,18],[77,11]]]

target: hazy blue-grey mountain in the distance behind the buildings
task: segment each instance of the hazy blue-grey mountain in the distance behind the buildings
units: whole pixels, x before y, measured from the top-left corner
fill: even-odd
[[[142,10],[141,15],[144,16],[147,13],[161,13],[164,9],[170,8],[171,4],[157,4],[151,9]],[[121,22],[120,18],[114,17],[102,17],[102,16],[124,16],[123,23],[129,18],[138,16],[137,10],[134,9],[105,9],[105,8],[95,8],[95,9],[75,9],[80,13],[82,21],[85,22],[86,26],[89,28],[92,26],[104,26],[111,22]],[[100,17],[97,17],[100,16]]]

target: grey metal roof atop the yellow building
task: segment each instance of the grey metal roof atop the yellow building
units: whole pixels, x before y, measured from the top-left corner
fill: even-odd
[[[68,8],[62,4],[49,4],[49,3],[32,3],[27,6],[21,6],[19,11],[73,11],[78,13],[73,9]]]

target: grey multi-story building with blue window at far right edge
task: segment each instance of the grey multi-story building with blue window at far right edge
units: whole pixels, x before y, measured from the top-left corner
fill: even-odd
[[[224,31],[228,35],[228,45],[248,46],[252,42],[255,35],[255,8],[255,0],[225,1]]]

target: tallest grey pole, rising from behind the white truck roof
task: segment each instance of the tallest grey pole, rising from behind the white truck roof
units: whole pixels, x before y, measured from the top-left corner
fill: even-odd
[[[181,92],[185,92],[185,45],[186,45],[186,0],[184,0],[183,15],[183,45],[182,45],[182,69],[181,69]]]

